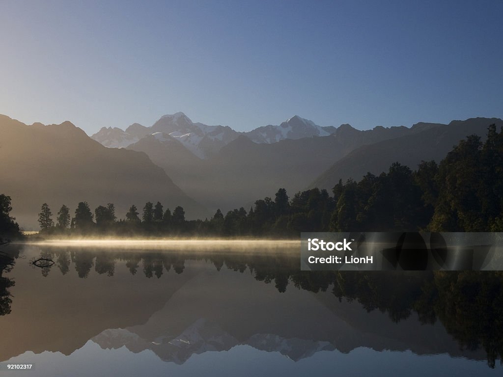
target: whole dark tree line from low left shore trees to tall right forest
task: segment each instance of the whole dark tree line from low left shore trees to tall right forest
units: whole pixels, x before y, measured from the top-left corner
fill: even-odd
[[[488,128],[485,142],[471,135],[439,164],[423,161],[415,171],[398,162],[380,175],[360,181],[340,180],[332,195],[317,188],[289,198],[279,189],[274,199],[257,200],[211,219],[186,220],[182,207],[164,211],[147,202],[141,217],[131,206],[117,220],[112,203],[94,214],[80,202],[74,217],[62,206],[56,224],[44,204],[39,214],[43,231],[186,236],[284,236],[323,231],[503,231],[503,134]]]

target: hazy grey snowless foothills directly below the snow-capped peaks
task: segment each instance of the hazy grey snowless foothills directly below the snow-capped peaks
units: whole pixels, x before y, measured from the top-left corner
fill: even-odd
[[[271,144],[241,135],[204,160],[157,134],[128,148],[147,153],[184,192],[212,212],[217,208],[225,212],[274,196],[279,187],[293,195],[353,149],[413,132],[406,127],[359,131],[342,125],[329,136]]]

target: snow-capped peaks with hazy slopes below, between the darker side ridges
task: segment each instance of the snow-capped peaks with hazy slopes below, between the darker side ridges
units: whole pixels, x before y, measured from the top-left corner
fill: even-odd
[[[294,116],[279,126],[238,133],[229,127],[193,123],[183,113],[161,117],[147,136],[141,137],[145,128],[133,126],[114,141],[110,134],[118,133],[117,129],[103,128],[92,138],[107,146],[123,146],[124,140],[130,140],[127,149],[146,153],[210,212],[248,208],[280,187],[295,193],[353,149],[410,132],[406,127],[369,131],[347,124],[320,127]]]

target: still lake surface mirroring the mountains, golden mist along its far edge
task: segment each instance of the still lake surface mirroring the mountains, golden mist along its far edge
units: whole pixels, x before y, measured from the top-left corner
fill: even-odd
[[[34,366],[0,375],[502,371],[500,272],[300,271],[295,242],[2,251],[0,361]],[[55,263],[33,266],[38,258]]]

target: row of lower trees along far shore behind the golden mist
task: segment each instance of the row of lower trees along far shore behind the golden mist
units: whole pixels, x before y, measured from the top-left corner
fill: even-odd
[[[255,202],[247,212],[243,207],[224,215],[217,210],[211,219],[186,220],[183,207],[173,212],[160,202],[147,202],[141,212],[132,205],[124,218],[117,219],[115,206],[98,206],[94,213],[87,202],[78,203],[73,216],[62,205],[54,216],[44,203],[38,216],[45,234],[113,234],[118,236],[295,236],[301,231],[316,231],[328,226],[334,202],[326,190],[298,193],[289,201],[285,189],[275,199]]]

